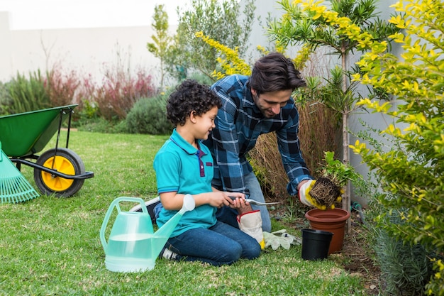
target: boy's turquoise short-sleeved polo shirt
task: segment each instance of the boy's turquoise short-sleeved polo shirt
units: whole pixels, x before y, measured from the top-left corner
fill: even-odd
[[[177,192],[179,194],[199,194],[211,192],[213,180],[213,157],[209,149],[200,143],[201,150],[177,133],[172,132],[154,158],[157,179],[157,192]],[[203,204],[193,211],[185,212],[171,237],[178,236],[189,229],[203,227],[208,229],[216,224],[216,207]],[[162,208],[156,220],[158,226],[165,224],[178,211]]]

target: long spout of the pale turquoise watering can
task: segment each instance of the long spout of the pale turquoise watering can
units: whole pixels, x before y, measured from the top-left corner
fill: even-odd
[[[167,223],[163,224],[160,229],[158,229],[155,234],[154,238],[156,239],[156,243],[152,243],[152,248],[154,254],[157,254],[157,256],[160,254],[160,251],[162,251],[162,248],[165,246],[165,243],[167,243],[167,240],[170,239],[170,235],[172,234],[172,231],[176,227],[177,223],[179,223],[180,218],[185,214],[185,212],[192,211],[196,204],[194,203],[194,198],[191,194],[186,194],[184,196],[184,202],[182,204],[182,209],[177,212],[170,220],[167,221]]]

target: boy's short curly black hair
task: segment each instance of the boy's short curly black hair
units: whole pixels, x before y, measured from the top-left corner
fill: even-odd
[[[211,92],[209,86],[199,84],[196,80],[184,80],[176,87],[176,91],[170,94],[167,102],[167,119],[174,126],[183,126],[192,111],[201,116],[215,106],[221,108],[221,99]]]

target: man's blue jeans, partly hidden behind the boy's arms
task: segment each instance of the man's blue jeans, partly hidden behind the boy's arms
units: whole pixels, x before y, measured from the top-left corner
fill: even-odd
[[[260,189],[259,181],[254,172],[250,172],[248,175],[244,176],[245,185],[250,190],[250,199],[255,199],[257,202],[265,202],[264,194]],[[213,187],[218,190],[222,189],[221,180],[213,179]],[[253,210],[260,210],[260,217],[262,218],[262,231],[271,232],[272,231],[272,221],[270,219],[270,213],[268,212],[267,206],[257,206],[255,204],[251,205]],[[238,211],[236,209],[231,209],[231,207],[222,207],[216,212],[216,218],[219,221],[223,221],[226,224],[230,224],[234,227],[238,226]]]

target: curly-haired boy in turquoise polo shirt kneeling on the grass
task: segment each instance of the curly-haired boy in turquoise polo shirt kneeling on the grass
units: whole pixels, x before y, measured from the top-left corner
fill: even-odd
[[[211,187],[213,158],[201,140],[215,127],[219,107],[221,100],[209,87],[194,80],[182,82],[168,100],[167,118],[175,128],[154,160],[162,202],[157,225],[161,227],[177,213],[185,194],[192,194],[196,208],[182,216],[162,251],[164,258],[218,266],[260,255],[256,239],[216,219],[221,207],[248,207],[243,193]]]

